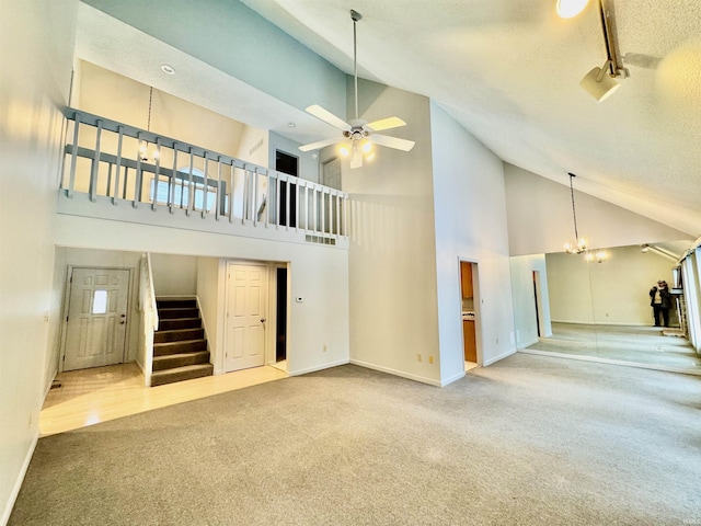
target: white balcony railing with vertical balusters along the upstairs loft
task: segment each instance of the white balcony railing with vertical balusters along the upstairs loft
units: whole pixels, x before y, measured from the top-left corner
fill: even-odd
[[[220,232],[269,238],[263,227],[302,241],[347,243],[344,192],[77,110],[66,116],[59,213],[104,217],[87,206],[101,203],[124,218],[129,205],[207,219]],[[194,225],[185,228],[211,230]]]

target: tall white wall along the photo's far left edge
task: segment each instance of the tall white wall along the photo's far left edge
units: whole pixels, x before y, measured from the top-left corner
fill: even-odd
[[[59,108],[77,9],[73,0],[0,0],[0,524],[34,450],[47,387]]]

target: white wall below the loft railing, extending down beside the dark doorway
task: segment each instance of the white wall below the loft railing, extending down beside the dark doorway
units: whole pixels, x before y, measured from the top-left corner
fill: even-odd
[[[290,305],[288,371],[298,375],[348,362],[348,254],[344,249],[65,214],[55,221],[56,242],[65,245],[289,262],[291,296],[304,301]]]

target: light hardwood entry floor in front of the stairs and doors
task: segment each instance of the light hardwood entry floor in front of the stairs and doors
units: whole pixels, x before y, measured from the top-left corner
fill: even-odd
[[[275,367],[255,367],[226,375],[145,387],[135,363],[61,373],[61,387],[49,390],[39,414],[41,436],[54,435],[152,409],[211,397],[287,378]]]

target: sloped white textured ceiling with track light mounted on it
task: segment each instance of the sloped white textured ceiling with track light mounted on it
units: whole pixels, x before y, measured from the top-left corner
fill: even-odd
[[[507,162],[701,233],[701,0],[609,0],[630,78],[597,103],[596,0],[243,0],[348,73],[430,96]]]

